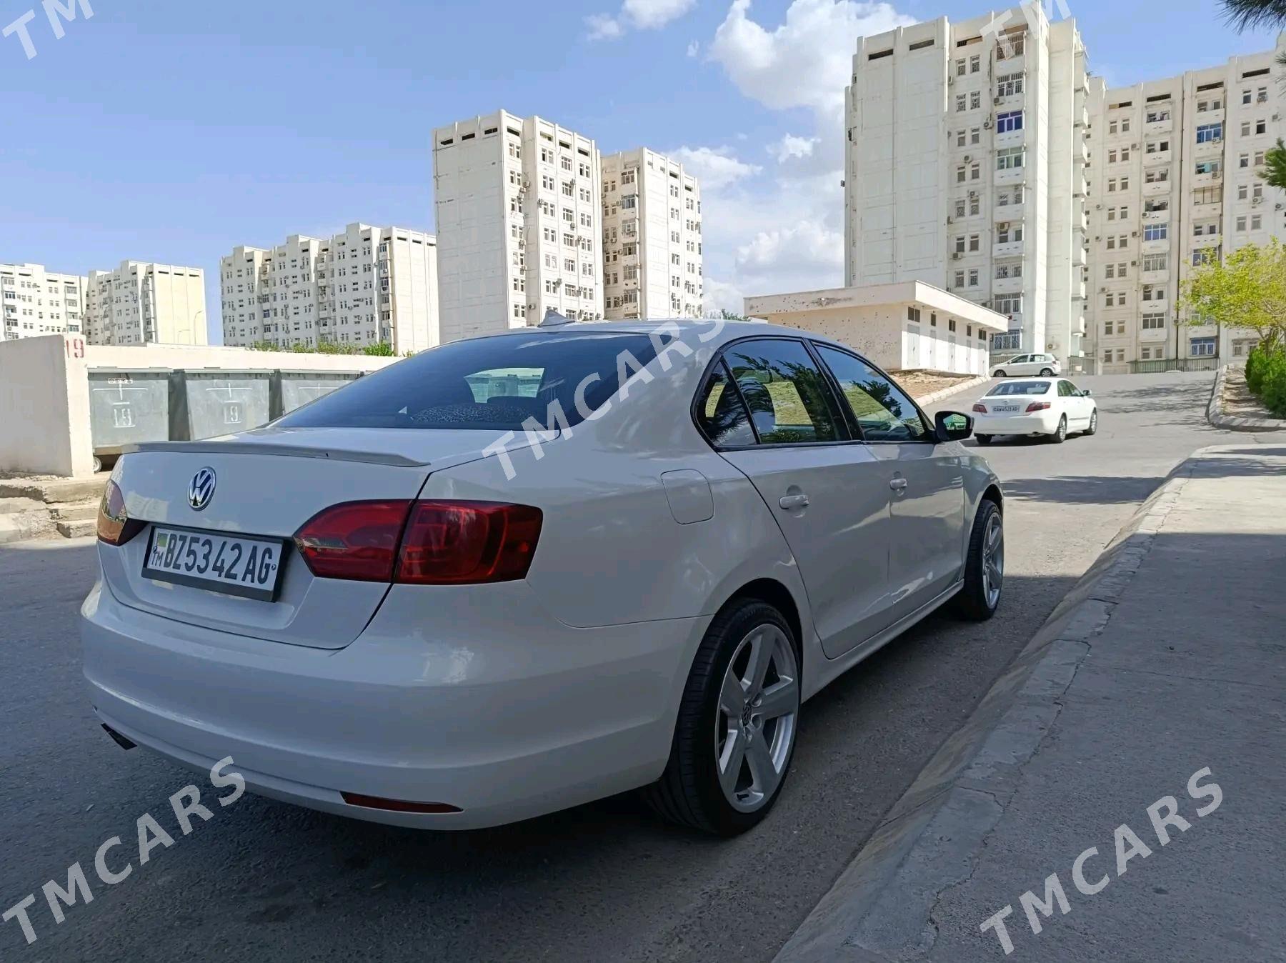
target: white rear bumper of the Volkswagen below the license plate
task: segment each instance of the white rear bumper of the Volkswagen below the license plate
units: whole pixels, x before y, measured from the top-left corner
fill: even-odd
[[[333,651],[175,622],[96,585],[81,609],[90,697],[181,764],[231,756],[252,792],[396,825],[498,825],[661,774],[709,618],[571,629],[513,582],[493,611],[462,612],[455,638],[428,639],[415,588]],[[373,810],[341,791],[462,811]]]

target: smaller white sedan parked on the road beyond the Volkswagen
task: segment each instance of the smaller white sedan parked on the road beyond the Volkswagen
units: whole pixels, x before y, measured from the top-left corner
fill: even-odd
[[[1024,378],[994,384],[974,404],[979,445],[997,435],[1044,435],[1061,442],[1069,432],[1098,431],[1098,405],[1089,388],[1066,378]]]

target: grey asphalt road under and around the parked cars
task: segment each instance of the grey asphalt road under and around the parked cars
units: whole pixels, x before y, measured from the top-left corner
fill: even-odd
[[[770,960],[1136,505],[1192,450],[1258,444],[1205,423],[1210,382],[1085,378],[1097,436],[986,449],[1008,494],[999,615],[934,616],[809,702],[781,802],[730,842],[631,797],[431,834],[247,796],[179,836],[167,800],[194,778],[121,751],[81,692],[93,544],[0,550],[0,912],[35,892],[39,937],[0,924],[0,959]],[[131,858],[144,813],[174,845],[103,886],[95,851],[120,834]],[[77,860],[94,900],[55,924],[40,887]]]

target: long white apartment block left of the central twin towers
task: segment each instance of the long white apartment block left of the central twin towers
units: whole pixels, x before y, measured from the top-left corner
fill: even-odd
[[[439,343],[437,246],[423,231],[350,224],[331,238],[237,247],[219,283],[225,345],[386,342],[405,354]]]

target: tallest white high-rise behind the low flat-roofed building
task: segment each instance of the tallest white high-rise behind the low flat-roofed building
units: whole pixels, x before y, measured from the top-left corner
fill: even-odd
[[[1038,4],[859,39],[845,283],[923,280],[1007,315],[995,346],[1079,357],[1087,95],[1075,22]]]

